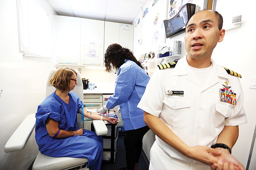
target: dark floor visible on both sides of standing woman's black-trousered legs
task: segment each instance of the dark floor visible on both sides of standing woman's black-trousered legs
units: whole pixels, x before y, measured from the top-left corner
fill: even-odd
[[[126,167],[126,155],[125,147],[123,144],[124,135],[119,135],[117,138],[117,151],[116,151],[116,163],[105,163],[102,162],[101,170],[119,170],[120,168]],[[143,152],[143,151],[142,151]],[[148,170],[149,162],[142,153],[140,155],[139,170]]]

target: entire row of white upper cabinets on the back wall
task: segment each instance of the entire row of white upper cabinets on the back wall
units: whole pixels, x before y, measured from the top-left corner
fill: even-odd
[[[57,65],[104,66],[110,44],[133,51],[133,25],[70,16],[55,16]]]

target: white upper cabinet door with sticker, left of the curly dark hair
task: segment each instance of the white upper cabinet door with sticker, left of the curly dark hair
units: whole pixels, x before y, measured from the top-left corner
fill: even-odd
[[[81,18],[81,66],[103,66],[104,21]]]

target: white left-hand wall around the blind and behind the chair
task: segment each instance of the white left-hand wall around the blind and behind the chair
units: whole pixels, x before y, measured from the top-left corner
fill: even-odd
[[[50,18],[54,14],[46,1]],[[26,115],[35,113],[45,98],[47,75],[53,59],[23,58],[19,53],[16,0],[0,0],[0,169],[24,170],[34,160],[38,147],[31,138],[22,151],[4,152],[4,146]]]

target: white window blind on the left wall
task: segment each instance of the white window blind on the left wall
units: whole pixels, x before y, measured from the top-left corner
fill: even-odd
[[[52,24],[36,0],[17,0],[19,51],[23,56],[51,58]]]

